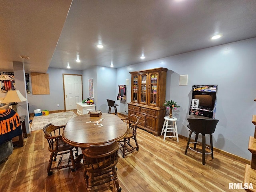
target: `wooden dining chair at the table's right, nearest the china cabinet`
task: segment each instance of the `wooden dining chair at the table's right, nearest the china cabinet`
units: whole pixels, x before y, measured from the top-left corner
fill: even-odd
[[[126,134],[124,139],[119,141],[122,146],[123,158],[126,156],[127,152],[132,152],[134,149],[137,151],[139,150],[139,144],[136,138],[139,118],[139,116],[131,114],[130,116],[121,119],[126,122],[126,126],[129,128],[129,132]],[[130,139],[135,141],[136,147],[132,146]]]

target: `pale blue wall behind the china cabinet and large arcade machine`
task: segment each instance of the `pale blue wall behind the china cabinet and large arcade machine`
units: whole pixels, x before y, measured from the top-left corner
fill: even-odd
[[[188,136],[187,118],[193,117],[189,116],[192,85],[218,84],[216,119],[220,121],[213,134],[214,147],[250,160],[248,139],[254,135],[252,115],[256,114],[255,50],[256,38],[252,38],[118,68],[117,85],[131,79],[131,71],[168,68],[166,100],[181,106],[174,111],[178,134]],[[188,86],[179,86],[179,76],[183,74],[188,74]],[[127,90],[130,102],[130,85]],[[121,107],[119,110],[124,112]]]

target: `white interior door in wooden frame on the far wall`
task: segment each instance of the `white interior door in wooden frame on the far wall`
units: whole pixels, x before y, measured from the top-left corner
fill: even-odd
[[[82,102],[82,76],[64,75],[66,110],[76,109],[76,103]]]

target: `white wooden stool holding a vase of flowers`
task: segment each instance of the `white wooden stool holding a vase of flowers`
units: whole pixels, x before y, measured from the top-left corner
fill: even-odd
[[[172,125],[169,125],[169,121],[172,122]],[[164,125],[163,125],[162,132],[161,132],[161,135],[164,132],[164,140],[165,140],[166,137],[176,137],[177,142],[179,142],[179,136],[178,136],[176,121],[177,121],[176,117],[172,117],[172,118],[170,118],[169,116],[164,117]],[[173,136],[166,136],[167,132],[168,133],[173,133]]]

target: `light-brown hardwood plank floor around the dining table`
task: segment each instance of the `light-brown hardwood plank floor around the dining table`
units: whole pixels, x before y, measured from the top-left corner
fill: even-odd
[[[153,136],[138,129],[139,151],[122,158],[119,153],[117,174],[122,192],[226,192],[229,183],[242,183],[245,163],[214,152],[214,159],[188,150],[186,140]],[[24,139],[24,147],[14,148],[0,164],[1,192],[86,192],[82,163],[76,172],[70,168],[54,170],[47,176],[50,152],[42,130]],[[66,161],[68,155],[63,157]],[[82,162],[82,161],[81,161]],[[95,191],[115,191],[114,182],[94,187]],[[241,191],[241,190],[230,190]]]

